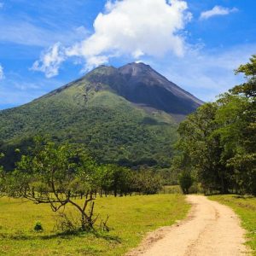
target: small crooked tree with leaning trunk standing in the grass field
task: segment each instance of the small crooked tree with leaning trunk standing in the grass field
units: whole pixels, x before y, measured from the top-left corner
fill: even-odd
[[[92,187],[97,168],[83,150],[38,141],[34,155],[22,155],[15,171],[8,174],[6,192],[36,204],[49,204],[54,212],[72,205],[80,213],[81,230],[90,230],[96,221]],[[82,205],[74,201],[78,195],[84,197]]]

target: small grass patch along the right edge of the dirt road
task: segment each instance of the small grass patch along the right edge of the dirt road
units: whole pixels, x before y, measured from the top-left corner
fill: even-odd
[[[213,195],[209,198],[231,207],[241,218],[241,224],[247,230],[247,245],[256,255],[256,197]]]

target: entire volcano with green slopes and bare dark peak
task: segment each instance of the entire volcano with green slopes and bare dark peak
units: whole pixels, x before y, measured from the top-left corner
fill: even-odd
[[[79,143],[101,162],[168,166],[177,120],[201,101],[143,63],[98,67],[37,100],[0,112],[9,169],[35,135]]]

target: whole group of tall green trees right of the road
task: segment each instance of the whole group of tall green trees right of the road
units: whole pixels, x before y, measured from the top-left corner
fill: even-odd
[[[256,195],[256,55],[237,73],[245,83],[202,105],[178,127],[172,168],[180,172],[183,191],[194,179],[210,193]]]

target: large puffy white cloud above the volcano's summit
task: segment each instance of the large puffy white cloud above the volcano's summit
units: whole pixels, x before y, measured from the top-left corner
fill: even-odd
[[[105,9],[94,21],[95,32],[67,49],[68,56],[83,57],[88,69],[120,55],[183,55],[180,32],[192,17],[185,1],[108,1]]]

